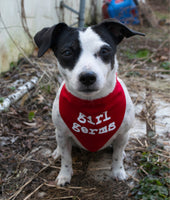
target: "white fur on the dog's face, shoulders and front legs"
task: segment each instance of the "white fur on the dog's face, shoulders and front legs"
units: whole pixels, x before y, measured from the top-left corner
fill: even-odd
[[[99,51],[101,46],[108,44],[103,42],[100,37],[92,31],[91,28],[88,28],[85,32],[80,32],[79,39],[81,41],[81,47],[83,51],[74,69],[69,71],[67,69],[63,69],[62,66],[59,65],[59,70],[65,79],[64,81],[66,87],[73,95],[81,99],[92,100],[104,97],[113,91],[115,87],[116,73],[118,68],[116,56],[115,66],[113,69],[111,69],[110,64],[106,65],[99,57],[94,57],[94,54]],[[96,84],[99,89],[97,92],[93,92],[90,95],[82,94],[81,92],[77,91],[79,87],[79,74],[86,70],[93,71],[97,74]],[[118,132],[113,135],[113,137],[104,145],[102,149],[110,144],[113,144],[114,151],[112,175],[114,178],[124,180],[127,176],[123,167],[123,152],[128,141],[128,130],[131,127],[134,119],[134,108],[125,84],[120,79],[119,81],[124,89],[126,97],[125,117]],[[54,125],[56,126],[57,140],[57,149],[54,151],[53,157],[54,159],[57,159],[59,156],[61,156],[61,170],[56,182],[58,185],[65,185],[67,182],[70,182],[73,173],[71,158],[72,139],[80,147],[82,147],[82,145],[77,141],[73,134],[70,133],[70,130],[60,116],[59,95],[61,88],[62,86],[58,91],[52,110],[52,118]]]

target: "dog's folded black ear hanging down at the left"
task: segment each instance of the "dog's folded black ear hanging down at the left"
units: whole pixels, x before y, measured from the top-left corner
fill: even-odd
[[[65,23],[59,23],[49,28],[43,28],[34,36],[34,41],[39,48],[38,57],[43,56],[52,47],[53,37],[57,37],[67,27]]]

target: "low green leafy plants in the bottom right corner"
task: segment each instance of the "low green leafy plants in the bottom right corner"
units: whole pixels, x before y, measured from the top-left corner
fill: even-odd
[[[168,200],[169,168],[153,152],[143,152],[139,159],[139,174],[143,176],[132,190],[135,199]]]

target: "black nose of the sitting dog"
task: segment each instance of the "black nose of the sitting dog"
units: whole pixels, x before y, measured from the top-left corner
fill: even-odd
[[[85,86],[90,86],[96,81],[96,74],[94,72],[82,72],[79,81]]]

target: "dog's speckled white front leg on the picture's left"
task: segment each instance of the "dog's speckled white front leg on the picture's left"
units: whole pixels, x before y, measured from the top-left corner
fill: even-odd
[[[61,156],[61,169],[55,182],[59,186],[64,186],[70,183],[73,174],[71,158],[72,142],[64,133],[57,132],[56,130],[57,149],[54,151],[53,157]]]

